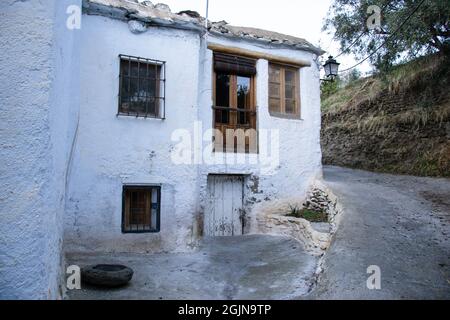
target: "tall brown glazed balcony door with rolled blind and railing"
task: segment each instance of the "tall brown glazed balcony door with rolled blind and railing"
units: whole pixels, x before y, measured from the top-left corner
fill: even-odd
[[[256,153],[255,60],[215,54],[214,136],[217,152]]]

